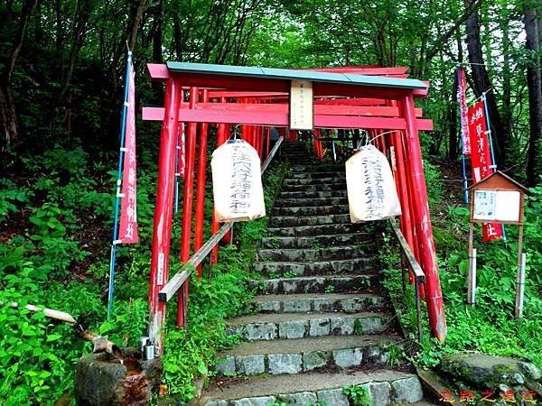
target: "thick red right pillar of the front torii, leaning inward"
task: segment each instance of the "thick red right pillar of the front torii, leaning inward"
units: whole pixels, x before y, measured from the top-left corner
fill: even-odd
[[[436,265],[435,242],[431,227],[431,215],[427,202],[422,152],[416,127],[416,112],[412,95],[404,97],[401,111],[406,120],[406,152],[409,156],[409,177],[412,180],[414,198],[414,214],[418,243],[422,251],[422,262],[425,271],[425,289],[429,323],[434,336],[441,342],[446,339],[446,318],[444,315],[443,295]]]

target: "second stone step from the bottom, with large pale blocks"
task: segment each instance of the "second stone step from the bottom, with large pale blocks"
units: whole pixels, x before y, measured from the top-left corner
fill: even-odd
[[[395,336],[309,337],[241,343],[217,356],[216,371],[226,375],[299,374],[316,368],[350,368],[382,364],[390,352],[396,357],[403,348]],[[397,356],[397,362],[401,362]]]

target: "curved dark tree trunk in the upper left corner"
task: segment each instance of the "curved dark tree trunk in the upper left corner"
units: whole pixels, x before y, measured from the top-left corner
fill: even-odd
[[[25,0],[19,20],[19,28],[14,38],[14,44],[10,55],[5,60],[5,70],[0,74],[0,116],[4,126],[4,145],[0,145],[0,153],[4,152],[6,146],[15,143],[19,138],[19,125],[15,110],[14,97],[11,89],[11,77],[14,73],[15,61],[19,58],[23,48],[24,32],[30,20],[33,6],[36,0]]]

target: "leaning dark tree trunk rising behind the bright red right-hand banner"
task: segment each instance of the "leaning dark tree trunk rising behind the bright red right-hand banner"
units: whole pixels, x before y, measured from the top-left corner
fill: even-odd
[[[466,8],[470,8],[472,0],[464,0]],[[469,61],[472,67],[472,83],[474,93],[477,97],[486,92],[486,101],[490,115],[491,136],[495,152],[495,161],[500,165],[505,161],[505,147],[508,144],[508,137],[502,131],[499,108],[493,91],[491,90],[491,79],[486,69],[481,47],[480,23],[478,21],[478,12],[475,10],[467,19],[467,49],[469,51]]]

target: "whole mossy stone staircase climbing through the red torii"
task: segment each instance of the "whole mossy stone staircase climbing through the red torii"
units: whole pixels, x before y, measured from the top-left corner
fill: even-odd
[[[285,143],[283,157],[295,164],[254,264],[267,279],[229,320],[243,342],[220,354],[200,404],[349,405],[352,385],[373,406],[421,401],[380,295],[375,235],[350,224],[344,166],[313,163],[302,143]]]

